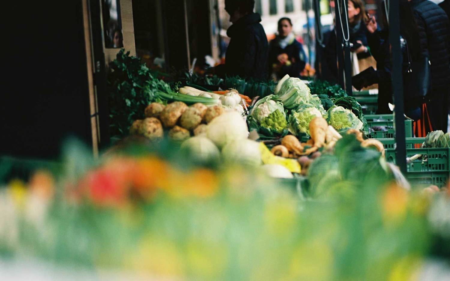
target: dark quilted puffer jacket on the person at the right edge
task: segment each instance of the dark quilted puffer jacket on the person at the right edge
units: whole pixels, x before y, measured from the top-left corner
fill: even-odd
[[[431,61],[432,88],[450,85],[450,22],[444,10],[428,0],[411,0],[423,55]]]

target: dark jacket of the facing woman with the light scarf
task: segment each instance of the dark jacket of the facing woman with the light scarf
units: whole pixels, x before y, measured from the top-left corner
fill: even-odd
[[[286,46],[286,48],[282,49],[279,46],[279,37],[276,37],[274,40],[270,41],[269,44],[269,67],[272,69],[273,64],[278,64],[278,56],[280,54],[287,54],[288,59],[292,62],[291,65],[284,65],[281,67],[280,71],[277,73],[278,78],[282,78],[286,74],[291,77],[300,77],[300,72],[303,71],[306,65],[305,51],[303,50],[303,46],[297,40],[293,40],[293,42]]]

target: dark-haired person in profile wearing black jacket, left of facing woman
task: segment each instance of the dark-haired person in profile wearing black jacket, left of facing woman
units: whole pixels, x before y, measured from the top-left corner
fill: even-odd
[[[267,79],[268,42],[261,25],[261,15],[253,13],[254,0],[225,0],[230,22],[230,37],[225,64],[214,68],[218,76],[240,76],[257,80]]]

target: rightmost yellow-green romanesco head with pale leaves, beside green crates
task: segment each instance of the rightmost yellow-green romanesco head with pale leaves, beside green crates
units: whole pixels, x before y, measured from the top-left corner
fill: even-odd
[[[345,109],[344,107],[330,107],[327,113],[328,124],[338,131],[343,129],[360,130],[363,128],[363,122],[351,110]]]

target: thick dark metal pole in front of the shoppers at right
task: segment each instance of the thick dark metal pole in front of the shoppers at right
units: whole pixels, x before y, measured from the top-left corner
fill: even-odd
[[[391,41],[392,92],[394,93],[396,164],[406,174],[405,116],[403,106],[402,53],[400,49],[399,1],[385,0],[386,13],[389,15],[389,40]]]

